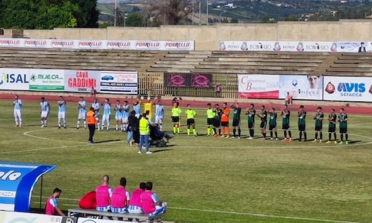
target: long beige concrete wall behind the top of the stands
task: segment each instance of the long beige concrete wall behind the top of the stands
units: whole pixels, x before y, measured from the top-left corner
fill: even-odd
[[[4,33],[7,33],[5,30]],[[194,40],[195,50],[219,50],[220,41],[368,41],[372,20],[240,23],[211,26],[55,28],[24,30],[27,38],[85,40]]]

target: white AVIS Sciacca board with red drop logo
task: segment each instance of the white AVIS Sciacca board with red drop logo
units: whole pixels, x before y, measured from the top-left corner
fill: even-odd
[[[324,100],[372,102],[372,77],[324,76]]]

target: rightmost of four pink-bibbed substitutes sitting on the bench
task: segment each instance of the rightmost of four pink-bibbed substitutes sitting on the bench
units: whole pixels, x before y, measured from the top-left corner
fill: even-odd
[[[146,215],[156,216],[166,212],[167,203],[161,202],[152,192],[152,182],[146,183],[146,190],[141,194],[142,210]]]

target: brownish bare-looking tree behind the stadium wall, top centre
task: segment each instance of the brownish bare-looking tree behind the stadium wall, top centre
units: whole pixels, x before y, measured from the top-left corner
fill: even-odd
[[[163,20],[163,24],[177,25],[191,10],[188,0],[147,0],[145,19],[156,18]]]

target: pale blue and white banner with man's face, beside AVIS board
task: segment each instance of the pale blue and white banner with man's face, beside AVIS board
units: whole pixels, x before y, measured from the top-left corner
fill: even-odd
[[[284,99],[289,92],[293,99],[322,100],[323,76],[280,75],[279,98]]]

